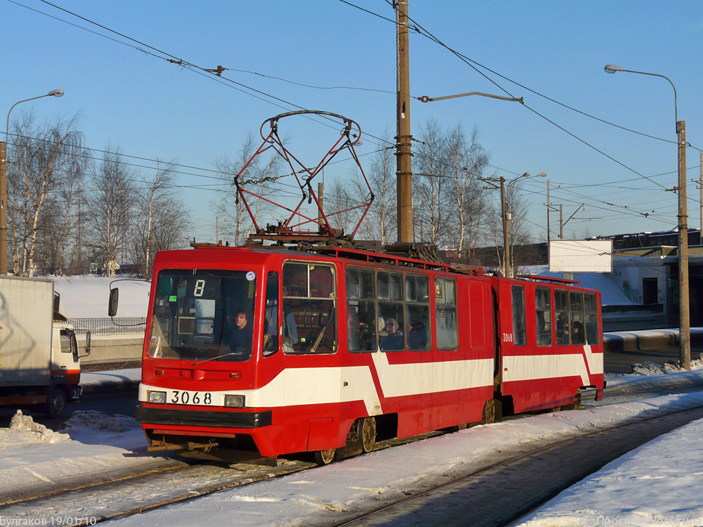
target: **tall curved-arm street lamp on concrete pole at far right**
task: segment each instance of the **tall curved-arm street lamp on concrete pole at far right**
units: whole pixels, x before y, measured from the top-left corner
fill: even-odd
[[[691,369],[691,341],[688,297],[688,212],[686,207],[686,122],[678,120],[678,103],[676,102],[676,86],[669,77],[657,73],[636,72],[625,70],[620,66],[608,64],[606,73],[628,72],[662,77],[673,88],[673,112],[678,135],[678,337],[679,365],[685,370]]]

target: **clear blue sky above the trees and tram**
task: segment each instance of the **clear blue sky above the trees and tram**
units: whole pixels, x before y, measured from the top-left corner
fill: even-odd
[[[264,120],[297,107],[342,114],[370,136],[383,136],[386,129],[394,135],[395,32],[392,22],[380,18],[393,19],[394,13],[385,0],[350,0],[380,16],[337,0],[52,3],[189,63],[227,67],[225,77],[267,96],[253,96],[248,89],[68,25],[60,20],[127,41],[39,0],[0,0],[3,119],[18,100],[63,89],[63,98],[25,103],[13,110],[13,117],[28,110],[39,119],[79,112],[90,148],[101,150],[110,143],[126,155],[201,169],[181,168],[189,173],[177,177],[183,186],[212,183],[191,174],[209,175],[217,158],[236,157],[247,134],[258,136]],[[603,66],[612,63],[671,79],[678,91],[679,119],[686,121],[687,140],[694,147],[688,148],[688,180],[698,179],[702,2],[411,0],[409,13],[444,44],[496,72],[478,68],[499,85],[430,39],[411,34],[413,96],[504,95],[502,87],[526,103],[480,97],[413,102],[415,133],[427,119],[445,127],[462,124],[467,131],[477,126],[498,176],[547,172],[551,201],[563,204],[565,217],[586,205],[586,212],[567,224],[567,237],[676,225],[676,195],[662,188],[676,185],[671,85],[658,77],[605,74]],[[271,77],[378,91],[322,90]],[[598,122],[529,90],[655,138]],[[314,122],[291,133],[290,148],[311,164],[337,134]],[[377,148],[378,141],[367,136],[359,154]],[[362,157],[364,164],[370,157]],[[148,174],[150,169],[141,170]],[[335,177],[334,172],[330,168],[325,177]],[[546,238],[545,178],[526,181],[522,188],[531,202],[527,219],[534,238]],[[192,235],[199,241],[214,239],[209,202],[215,194],[185,190],[196,224]],[[689,223],[697,227],[695,183],[689,182],[688,194]],[[638,214],[643,212],[650,216]],[[553,227],[557,221],[555,214]]]

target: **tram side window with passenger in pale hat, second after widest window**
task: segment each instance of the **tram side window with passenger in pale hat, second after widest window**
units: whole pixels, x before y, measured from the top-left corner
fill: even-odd
[[[405,351],[405,308],[403,304],[403,275],[378,271],[378,332],[381,351]]]

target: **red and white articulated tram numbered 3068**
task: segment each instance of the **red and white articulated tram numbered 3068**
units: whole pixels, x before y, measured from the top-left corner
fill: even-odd
[[[600,294],[356,249],[196,247],[154,268],[136,418],[245,461],[602,398]]]

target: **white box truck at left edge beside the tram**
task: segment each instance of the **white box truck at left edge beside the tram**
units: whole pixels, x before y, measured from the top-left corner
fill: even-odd
[[[0,405],[58,417],[66,401],[79,401],[80,377],[76,333],[53,280],[0,276]]]

